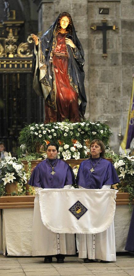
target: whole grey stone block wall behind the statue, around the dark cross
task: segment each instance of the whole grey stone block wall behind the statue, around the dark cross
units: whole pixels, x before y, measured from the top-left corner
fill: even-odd
[[[79,40],[85,52],[86,119],[108,124],[113,132],[110,146],[118,151],[118,133],[124,135],[132,91],[132,48],[134,45],[133,0],[34,0],[38,5],[39,31],[46,31],[60,12],[71,14]],[[99,8],[109,8],[108,15]],[[107,58],[102,57],[101,31],[92,25],[117,25],[107,31]]]

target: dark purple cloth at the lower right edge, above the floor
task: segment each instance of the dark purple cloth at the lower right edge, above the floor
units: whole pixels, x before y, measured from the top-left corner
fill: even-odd
[[[134,252],[134,209],[132,212],[125,250]]]

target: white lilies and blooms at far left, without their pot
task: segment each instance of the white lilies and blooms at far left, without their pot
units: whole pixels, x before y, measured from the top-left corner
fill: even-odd
[[[27,183],[26,173],[21,162],[17,162],[15,157],[6,156],[0,163],[0,183],[6,185],[6,183],[13,183],[17,181],[22,186]]]

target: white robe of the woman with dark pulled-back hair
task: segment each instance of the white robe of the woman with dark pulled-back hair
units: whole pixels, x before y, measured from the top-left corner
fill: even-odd
[[[65,188],[70,188],[67,185]],[[32,255],[33,256],[47,256],[47,255],[74,255],[75,254],[75,235],[74,234],[59,234],[48,230],[42,220],[39,205],[39,191],[42,188],[35,187],[36,197],[34,200],[34,215],[33,215],[33,242]],[[57,214],[58,220],[58,214]]]

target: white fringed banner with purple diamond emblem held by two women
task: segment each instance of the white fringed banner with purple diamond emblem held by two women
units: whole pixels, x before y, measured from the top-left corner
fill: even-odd
[[[39,192],[43,224],[56,233],[105,231],[115,213],[117,190],[44,189]]]

